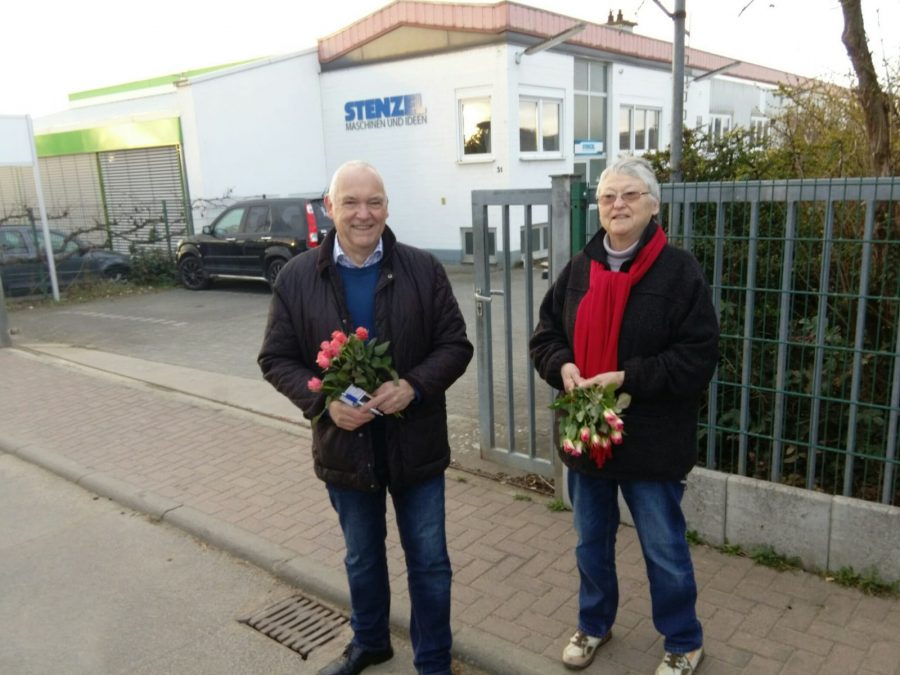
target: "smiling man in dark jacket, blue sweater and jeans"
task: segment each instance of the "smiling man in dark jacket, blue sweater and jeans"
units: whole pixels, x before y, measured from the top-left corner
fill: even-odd
[[[259,365],[264,377],[313,419],[316,475],[344,534],[353,639],[320,675],[353,675],[393,656],[385,554],[390,493],[406,555],[410,638],[419,673],[450,673],[450,559],[444,470],[450,463],[445,392],[465,372],[472,345],[442,265],[397,242],[374,167],[351,161],[328,195],[334,230],[279,274]],[[360,407],[310,391],[316,356],[335,330],[362,326],[390,341],[399,381]],[[380,411],[380,415],[374,411]]]

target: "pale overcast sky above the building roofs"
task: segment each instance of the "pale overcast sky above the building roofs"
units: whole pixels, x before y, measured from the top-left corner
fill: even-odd
[[[471,1],[471,0],[470,0]],[[612,10],[635,32],[671,42],[675,0],[518,0],[606,23]],[[685,0],[686,45],[807,77],[846,81],[838,0]],[[0,115],[41,117],[65,110],[68,95],[134,80],[315,47],[389,4],[334,0],[327,13],[300,0],[10,0],[0,38]],[[489,3],[490,4],[490,3]],[[862,1],[879,74],[900,59],[900,2]],[[890,30],[890,27],[894,30]]]

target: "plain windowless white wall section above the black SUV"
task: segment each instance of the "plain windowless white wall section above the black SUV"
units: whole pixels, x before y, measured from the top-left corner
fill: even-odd
[[[192,80],[179,91],[191,199],[327,188],[315,51]],[[197,209],[195,208],[195,214]],[[201,222],[204,214],[199,214]]]

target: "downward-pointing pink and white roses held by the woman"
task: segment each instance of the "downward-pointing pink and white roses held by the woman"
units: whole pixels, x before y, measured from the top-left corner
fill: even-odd
[[[628,394],[615,395],[615,387],[576,387],[550,407],[561,410],[559,438],[564,452],[580,457],[585,452],[598,468],[612,457],[612,446],[622,443],[625,424],[620,413],[631,403]]]

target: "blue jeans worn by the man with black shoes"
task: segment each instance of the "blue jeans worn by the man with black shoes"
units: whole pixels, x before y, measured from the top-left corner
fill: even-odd
[[[386,491],[328,486],[347,556],[353,641],[366,650],[390,644],[391,589],[385,537]],[[416,670],[450,673],[450,557],[444,530],[444,477],[392,490],[397,529],[406,555],[409,632]]]

